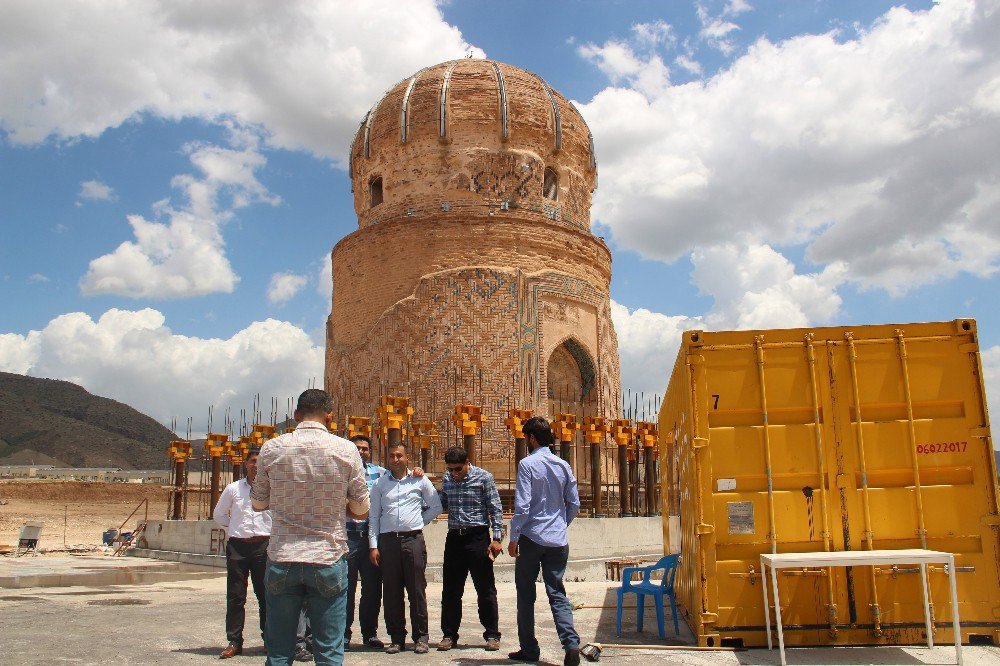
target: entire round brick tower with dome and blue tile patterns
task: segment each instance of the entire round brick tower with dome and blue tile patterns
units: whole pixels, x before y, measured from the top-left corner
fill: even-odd
[[[386,93],[351,149],[359,230],[332,255],[326,387],[341,414],[405,395],[443,431],[455,404],[481,404],[484,463],[512,456],[509,408],[618,416],[591,146],[576,109],[510,65],[442,63]],[[383,200],[371,205],[376,178]]]

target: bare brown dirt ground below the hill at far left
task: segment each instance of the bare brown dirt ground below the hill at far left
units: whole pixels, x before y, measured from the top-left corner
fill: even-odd
[[[0,547],[17,544],[21,525],[41,520],[41,552],[95,549],[109,527],[118,528],[132,509],[149,500],[149,517],[167,513],[167,489],[153,484],[88,481],[0,480]],[[145,509],[129,520],[126,531]]]

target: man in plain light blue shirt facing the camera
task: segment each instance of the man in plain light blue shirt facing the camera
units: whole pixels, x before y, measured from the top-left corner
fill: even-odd
[[[401,652],[406,641],[403,591],[410,600],[413,651],[427,654],[427,546],[424,525],[441,514],[441,499],[426,476],[415,476],[403,444],[390,447],[388,467],[372,487],[368,516],[371,561],[382,570],[385,628],[392,641],[386,654]]]

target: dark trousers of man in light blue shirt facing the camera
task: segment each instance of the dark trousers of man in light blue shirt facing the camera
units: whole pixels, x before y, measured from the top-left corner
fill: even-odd
[[[378,537],[382,568],[382,598],[385,604],[385,629],[389,640],[406,641],[406,612],[403,592],[410,600],[410,627],[413,642],[428,642],[427,630],[427,546],[423,532],[397,536],[383,533]]]

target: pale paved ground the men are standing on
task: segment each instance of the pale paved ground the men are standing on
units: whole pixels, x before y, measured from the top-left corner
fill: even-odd
[[[129,581],[122,583],[122,581]],[[112,584],[118,583],[118,584]],[[22,586],[28,585],[28,586]],[[40,586],[45,585],[45,586]],[[54,585],[54,586],[52,586]],[[15,587],[16,586],[16,587]],[[570,599],[587,607],[575,612],[584,642],[639,644],[688,643],[691,635],[681,625],[679,640],[667,629],[667,641],[656,638],[656,620],[647,607],[646,631],[635,631],[635,611],[626,613],[623,636],[615,636],[615,586],[612,582],[567,583]],[[428,655],[412,652],[388,656],[376,651],[351,651],[348,664],[422,663],[511,664],[506,654],[517,649],[516,597],[513,585],[498,588],[500,652],[483,650],[471,582],[465,595],[464,633],[459,647],[449,652],[432,649]],[[218,569],[204,569],[143,558],[108,556],[49,556],[0,558],[0,653],[4,663],[50,664],[178,664],[217,663],[226,646],[226,580]],[[536,622],[542,645],[542,663],[561,664],[562,651],[542,586],[538,586]],[[428,586],[432,642],[440,637],[441,585]],[[256,601],[247,603],[245,652],[239,664],[264,662],[257,627]],[[594,608],[593,606],[611,606]],[[669,615],[668,615],[669,617]],[[355,629],[357,629],[355,627]],[[384,633],[382,635],[384,638]],[[409,645],[412,649],[412,644]],[[1000,648],[966,646],[965,663],[1000,663]],[[667,652],[606,648],[600,660],[609,664],[778,664],[777,650],[745,652]],[[790,664],[954,664],[950,645],[926,647],[796,648],[788,651]]]

